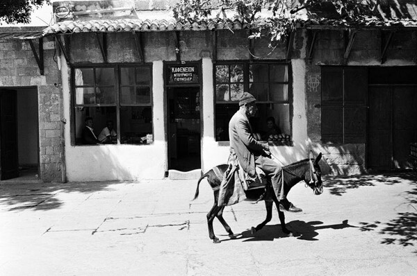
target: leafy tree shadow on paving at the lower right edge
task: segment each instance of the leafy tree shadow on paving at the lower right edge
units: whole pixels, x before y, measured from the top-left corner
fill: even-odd
[[[397,217],[388,223],[374,221],[373,223],[361,222],[359,229],[363,232],[377,231],[382,235],[392,237],[382,239],[383,244],[399,244],[417,246],[417,188],[405,192],[411,212],[398,212]],[[417,250],[414,251],[417,254]]]

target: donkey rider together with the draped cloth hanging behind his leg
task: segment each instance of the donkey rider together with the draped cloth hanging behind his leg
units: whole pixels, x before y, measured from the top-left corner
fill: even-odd
[[[232,205],[245,199],[240,183],[247,187],[247,183],[259,183],[266,177],[272,184],[272,191],[279,200],[281,210],[302,212],[302,209],[295,207],[284,196],[281,166],[271,158],[268,143],[260,143],[254,138],[249,118],[256,114],[256,98],[244,92],[239,107],[229,121],[229,167],[220,184],[218,206]],[[268,188],[266,192],[272,192]]]

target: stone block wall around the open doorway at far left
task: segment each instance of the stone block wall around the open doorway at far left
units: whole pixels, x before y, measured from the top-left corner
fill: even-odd
[[[38,40],[33,40],[39,49]],[[54,42],[43,40],[44,75],[40,75],[31,46],[22,40],[0,41],[0,87],[37,87],[39,113],[40,178],[60,182],[63,167],[62,92],[54,61]],[[39,54],[39,51],[38,51]]]

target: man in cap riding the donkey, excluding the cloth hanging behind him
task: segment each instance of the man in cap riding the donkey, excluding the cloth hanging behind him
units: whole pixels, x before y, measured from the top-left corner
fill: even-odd
[[[270,157],[268,143],[259,143],[254,138],[249,118],[254,117],[257,111],[256,98],[250,93],[243,93],[239,101],[239,110],[229,121],[230,150],[236,154],[243,171],[250,178],[256,179],[256,167],[270,179],[280,205],[286,211],[301,212],[281,193],[281,167]]]

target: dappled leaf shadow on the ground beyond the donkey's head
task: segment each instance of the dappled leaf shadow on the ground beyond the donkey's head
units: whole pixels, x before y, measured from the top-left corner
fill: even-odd
[[[404,180],[417,182],[417,173],[413,171],[402,173],[383,173],[372,175],[333,176],[325,175],[323,185],[334,196],[342,196],[349,189],[376,186],[377,184],[394,185]]]

